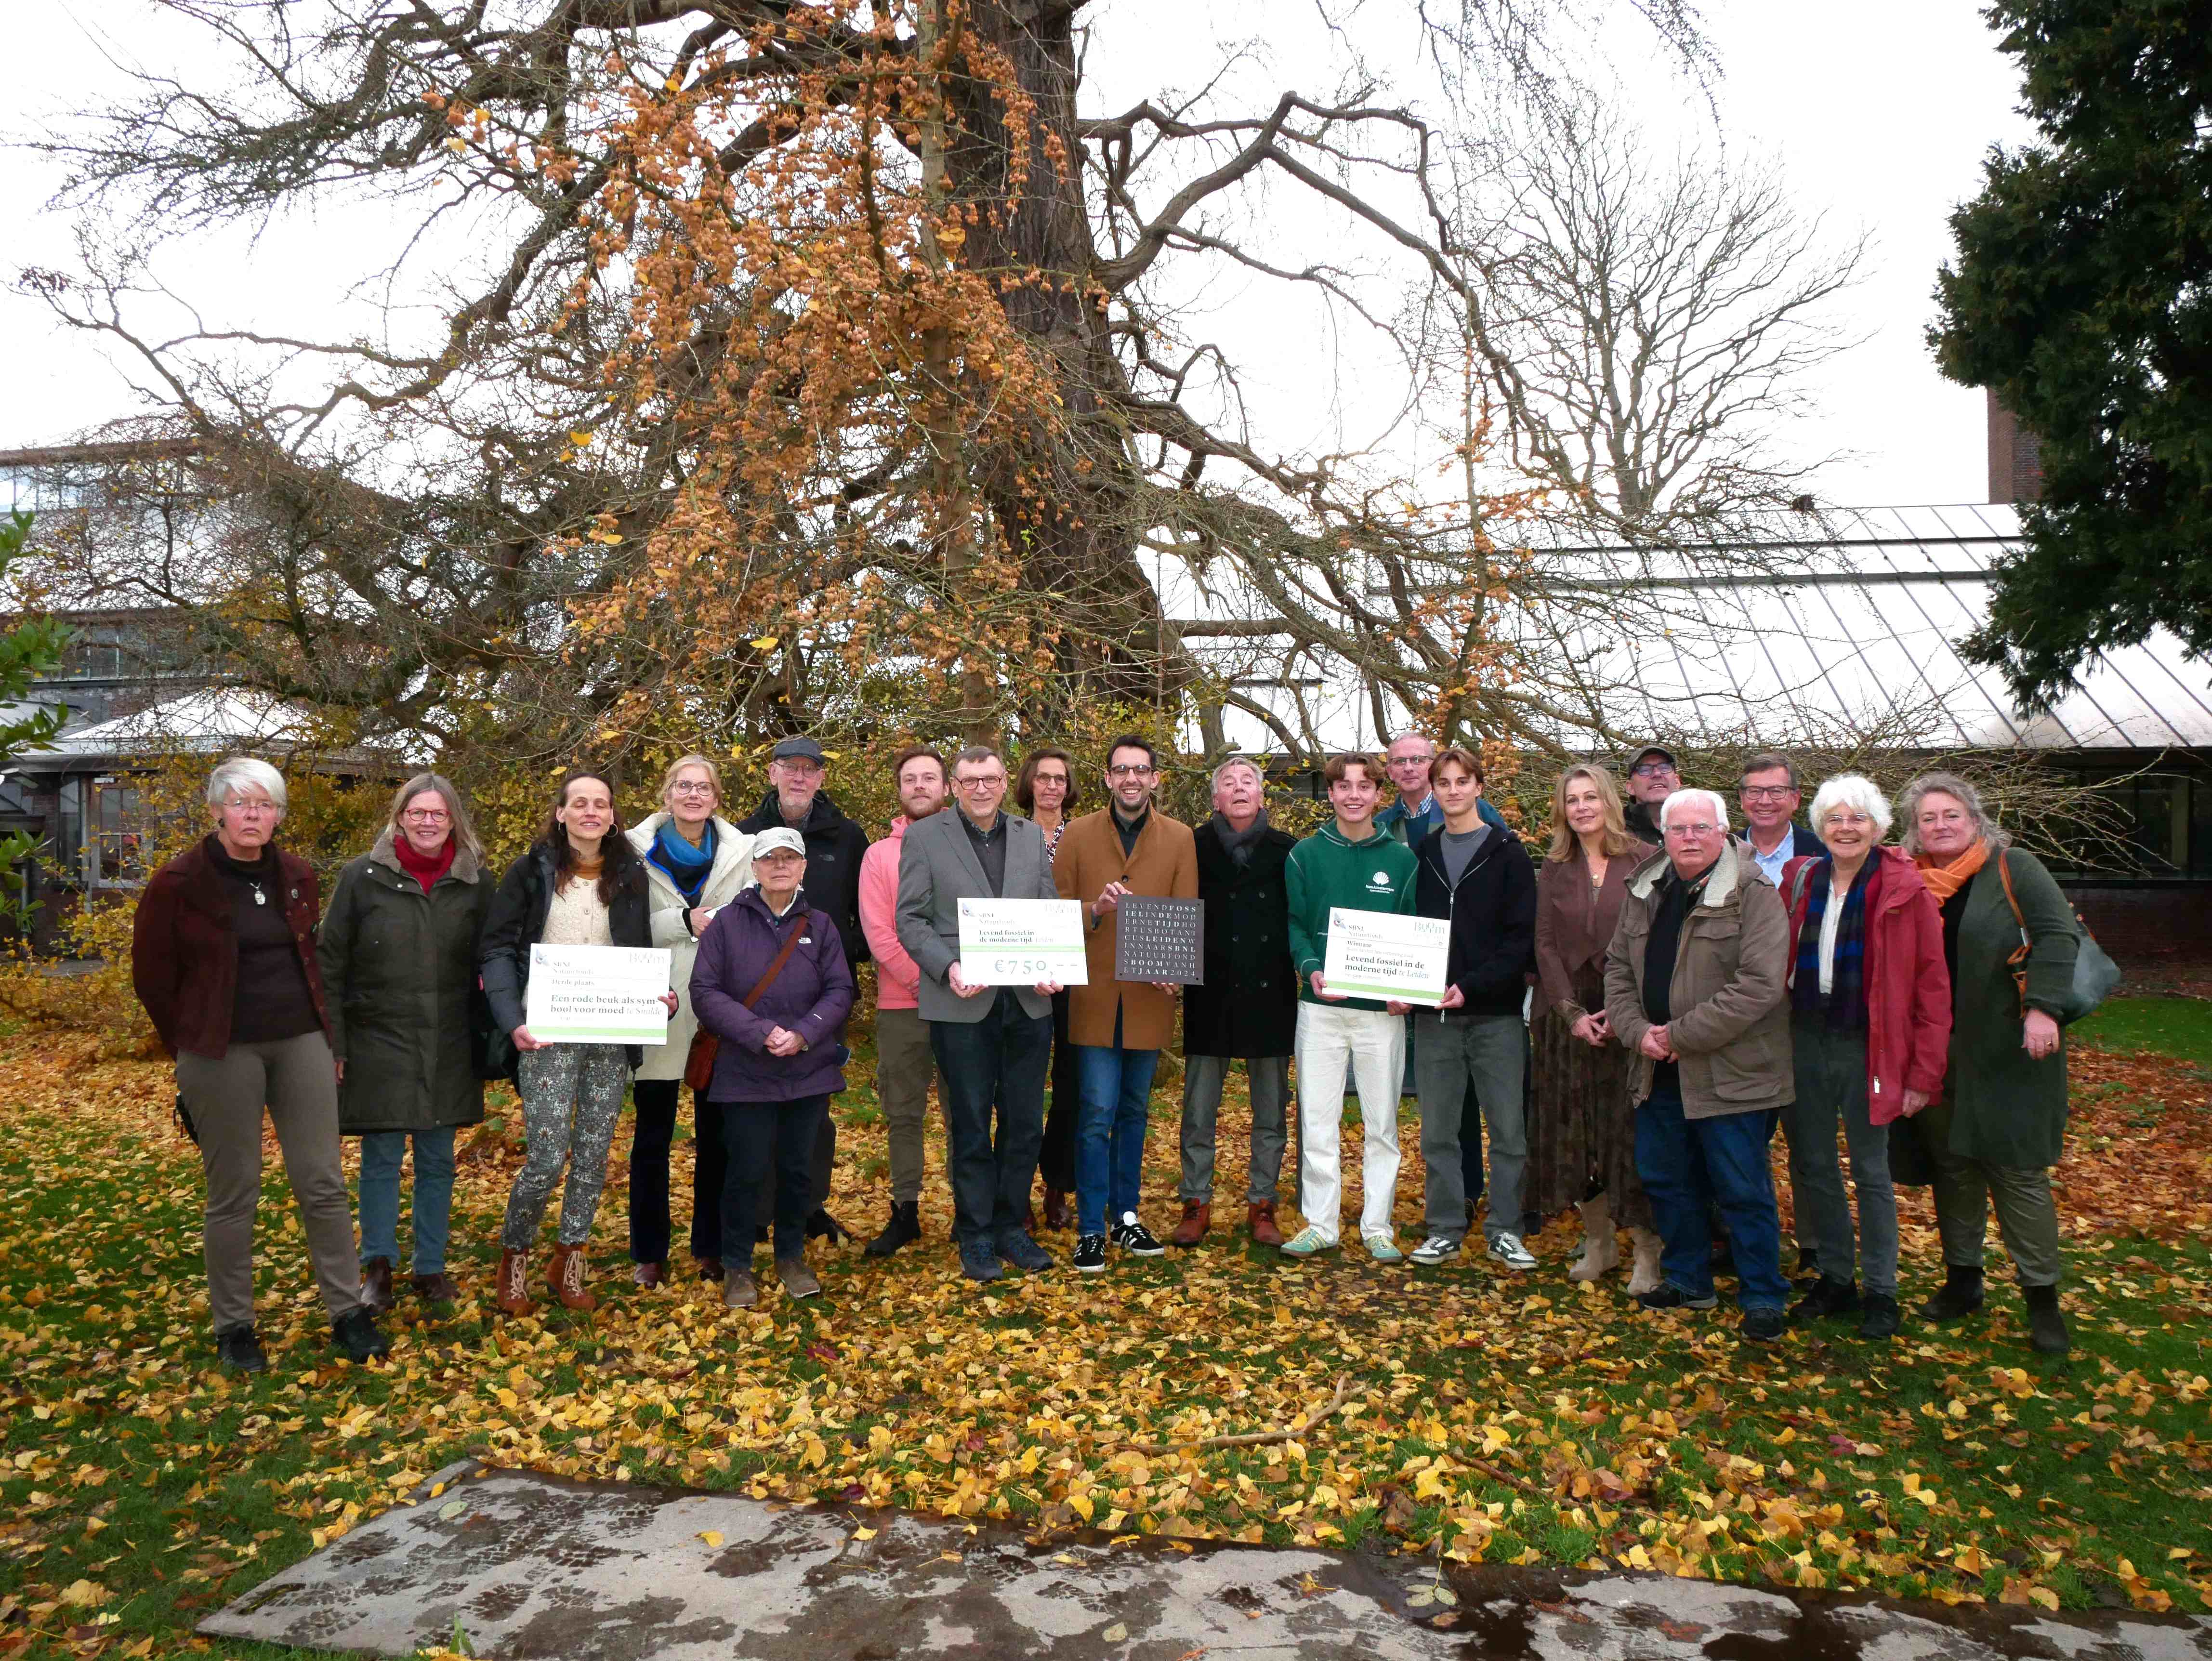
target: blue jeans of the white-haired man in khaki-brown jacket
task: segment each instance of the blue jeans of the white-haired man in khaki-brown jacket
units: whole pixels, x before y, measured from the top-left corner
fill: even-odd
[[[1772,1110],[1686,1119],[1679,1086],[1652,1090],[1637,1108],[1637,1179],[1659,1225],[1659,1274],[1668,1285],[1692,1298],[1712,1296],[1708,1216],[1717,1208],[1736,1258],[1736,1303],[1745,1309],[1790,1303],[1783,1221],[1767,1168],[1772,1137]]]

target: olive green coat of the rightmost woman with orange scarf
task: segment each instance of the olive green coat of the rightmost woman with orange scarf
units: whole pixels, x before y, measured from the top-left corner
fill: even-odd
[[[2057,880],[2033,854],[2004,849],[2013,894],[2028,922],[2028,1009],[2057,1015],[2073,986],[2081,931]],[[2066,1143],[2066,1040],[2055,1055],[2031,1059],[2022,1044],[2020,991],[2006,958],[2020,924],[2004,902],[1997,856],[1966,882],[1966,916],[1958,924],[1958,973],[1951,978],[1951,1152],[1993,1166],[2042,1168]]]

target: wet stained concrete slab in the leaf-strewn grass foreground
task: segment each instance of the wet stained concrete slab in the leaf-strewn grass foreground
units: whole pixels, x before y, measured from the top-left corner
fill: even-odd
[[[427,1497],[431,1484],[447,1491]],[[473,1462],[210,1615],[208,1637],[560,1661],[2212,1661],[2212,1623],[1785,1597],[1663,1575],[1004,1528]],[[1438,1623],[1442,1621],[1442,1626]]]

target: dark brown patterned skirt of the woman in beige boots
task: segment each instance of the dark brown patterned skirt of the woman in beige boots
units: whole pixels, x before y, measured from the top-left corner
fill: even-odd
[[[1584,1009],[1606,1006],[1604,975],[1593,967],[1575,980]],[[1617,1228],[1650,1228],[1650,1201],[1637,1181],[1637,1110],[1628,1104],[1635,1057],[1619,1044],[1590,1048],[1555,1011],[1531,1031],[1533,1075],[1528,1174],[1522,1205],[1555,1216],[1597,1192],[1613,1197]]]

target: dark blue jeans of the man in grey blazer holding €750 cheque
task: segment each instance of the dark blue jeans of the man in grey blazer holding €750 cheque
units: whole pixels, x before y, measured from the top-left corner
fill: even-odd
[[[1022,1228],[1044,1141],[1044,1070],[1053,1017],[1022,1011],[1000,986],[980,1022],[929,1022],[945,1090],[953,1234],[962,1247],[991,1245]],[[995,1119],[995,1128],[993,1128]]]

